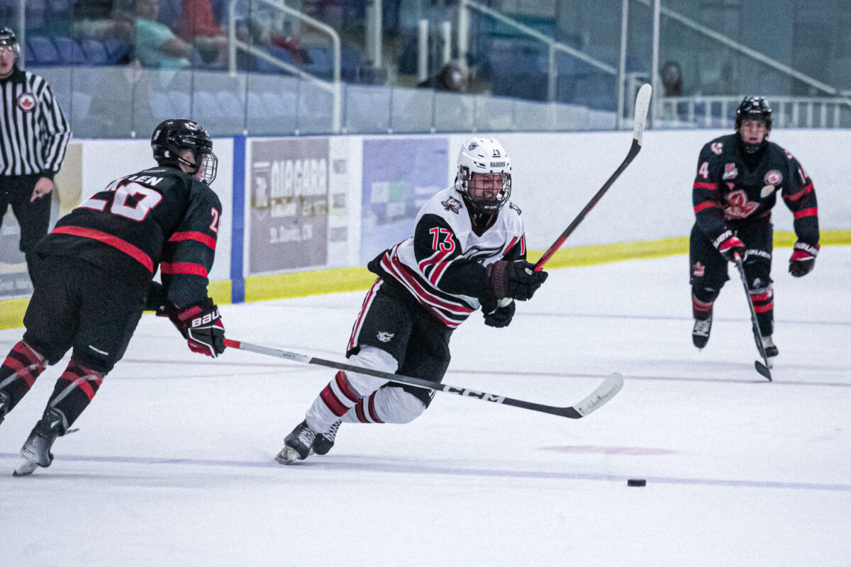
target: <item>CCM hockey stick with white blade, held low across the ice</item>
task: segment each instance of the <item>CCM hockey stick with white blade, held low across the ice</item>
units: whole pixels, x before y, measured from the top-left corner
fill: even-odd
[[[229,338],[225,339],[225,346],[230,347],[231,349],[248,350],[248,352],[277,356],[278,358],[294,360],[295,362],[302,362],[304,364],[315,364],[318,366],[327,366],[328,368],[336,368],[337,370],[347,370],[357,372],[359,374],[368,374],[369,376],[386,378],[387,380],[391,380],[396,383],[411,384],[413,386],[420,386],[420,388],[428,388],[431,390],[437,390],[438,392],[445,392],[447,394],[457,394],[474,400],[490,401],[494,402],[494,404],[513,405],[515,407],[523,408],[524,410],[551,413],[554,416],[569,417],[570,419],[579,419],[580,417],[587,416],[591,413],[591,411],[596,410],[608,400],[614,398],[614,394],[617,394],[620,391],[620,388],[624,385],[624,377],[622,377],[618,372],[614,372],[606,378],[602,384],[597,386],[597,389],[591,392],[591,394],[584,400],[581,400],[574,405],[568,405],[567,407],[558,407],[556,405],[535,404],[530,401],[515,400],[514,398],[509,398],[507,396],[488,394],[487,392],[477,392],[476,390],[471,390],[469,388],[459,388],[457,386],[449,386],[448,384],[437,384],[420,378],[403,376],[401,374],[391,374],[390,372],[372,370],[371,368],[364,368],[363,366],[353,366],[343,362],[334,362],[334,360],[323,360],[306,354],[270,349],[269,347],[261,347],[256,344],[243,343],[242,341],[232,341]]]

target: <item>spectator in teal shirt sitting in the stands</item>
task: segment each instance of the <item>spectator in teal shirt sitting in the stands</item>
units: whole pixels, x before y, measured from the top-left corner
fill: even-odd
[[[157,22],[159,0],[136,0],[136,57],[145,67],[183,69],[191,66],[191,45]]]

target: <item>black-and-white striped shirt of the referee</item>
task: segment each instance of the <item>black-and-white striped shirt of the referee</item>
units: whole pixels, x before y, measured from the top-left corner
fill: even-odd
[[[17,65],[0,79],[0,175],[40,173],[53,179],[59,171],[71,127],[47,81]]]

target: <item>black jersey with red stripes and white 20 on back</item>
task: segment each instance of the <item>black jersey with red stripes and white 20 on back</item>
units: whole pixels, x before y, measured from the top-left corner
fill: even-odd
[[[186,308],[208,297],[221,203],[176,167],[116,179],[60,218],[39,252],[79,258],[147,286],[160,269],[168,301]]]

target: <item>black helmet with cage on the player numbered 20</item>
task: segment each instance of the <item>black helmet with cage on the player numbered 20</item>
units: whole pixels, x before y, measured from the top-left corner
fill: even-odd
[[[161,166],[180,167],[182,164],[194,167],[191,171],[193,175],[197,175],[203,167],[203,174],[198,179],[206,184],[213,183],[215,179],[219,159],[213,153],[213,139],[197,122],[182,118],[160,122],[151,135],[151,150]],[[187,162],[182,157],[186,150],[192,152],[194,162]]]

